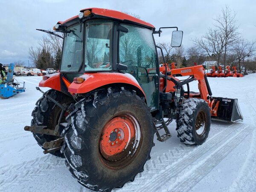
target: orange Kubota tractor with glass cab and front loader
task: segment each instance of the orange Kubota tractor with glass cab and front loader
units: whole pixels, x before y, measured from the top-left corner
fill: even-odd
[[[175,29],[172,46],[180,47],[183,32],[164,28]],[[243,119],[237,99],[212,96],[202,65],[159,67],[157,49],[164,55],[153,35],[161,29],[99,8],[82,9],[54,26],[64,34],[60,73],[43,76],[39,86],[51,89],[37,87],[43,96],[24,129],[44,153],[66,158],[88,189],[111,191],[133,181],[150,159],[154,134],[161,142],[169,139],[173,120],[182,143],[201,145],[211,118]],[[192,81],[198,81],[198,93],[189,91]]]

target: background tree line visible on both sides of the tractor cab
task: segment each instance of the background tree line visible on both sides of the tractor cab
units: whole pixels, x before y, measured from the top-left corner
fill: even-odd
[[[130,14],[139,18],[138,15]],[[212,27],[205,35],[193,38],[193,46],[185,49],[183,46],[172,48],[171,42],[160,42],[158,45],[164,51],[164,58],[168,64],[175,62],[177,67],[189,67],[194,63],[217,61],[217,65],[235,65],[239,72],[244,70],[256,71],[256,41],[248,41],[239,33],[236,12],[229,6],[221,9],[221,13],[213,19]],[[54,35],[48,34],[41,38],[38,47],[29,48],[29,59],[38,68],[59,69],[63,41]],[[163,63],[161,52],[158,52],[159,61]]]

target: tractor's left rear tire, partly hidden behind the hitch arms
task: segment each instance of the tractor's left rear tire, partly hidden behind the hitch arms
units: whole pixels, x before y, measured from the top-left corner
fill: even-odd
[[[49,90],[49,95],[55,99],[56,101],[60,102],[61,104],[66,103],[67,105],[70,105],[72,102],[75,102],[73,98],[66,96],[64,93],[61,93],[56,90]],[[36,102],[36,107],[32,111],[32,117],[31,120],[31,126],[37,126],[37,125],[45,125],[48,129],[55,129],[55,126],[58,124],[58,118],[61,113],[61,108],[59,108],[57,105],[55,105],[53,102],[49,101],[46,97],[41,97]],[[66,122],[65,117],[62,119],[61,122]],[[60,130],[61,133],[62,130]],[[52,140],[56,140],[59,137],[53,136],[53,135],[47,135],[47,134],[37,134],[33,133],[33,136],[35,140],[38,142],[38,145],[40,145],[43,148],[43,144],[45,142],[49,142]],[[48,148],[43,148],[44,150],[47,150]],[[64,154],[61,154],[61,151],[54,151],[51,154],[57,156],[57,157],[64,157]]]

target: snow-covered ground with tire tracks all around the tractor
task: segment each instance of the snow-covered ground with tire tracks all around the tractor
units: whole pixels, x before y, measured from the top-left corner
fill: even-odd
[[[43,154],[23,130],[42,95],[35,90],[41,77],[16,79],[26,82],[26,92],[0,99],[0,191],[88,191],[71,176],[64,159]],[[164,143],[154,138],[144,172],[113,191],[256,191],[256,74],[208,79],[213,96],[238,98],[244,122],[212,120],[207,141],[198,147],[180,143],[172,122],[172,138]],[[197,84],[192,87],[196,90]]]

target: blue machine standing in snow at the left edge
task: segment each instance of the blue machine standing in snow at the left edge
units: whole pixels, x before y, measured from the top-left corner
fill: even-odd
[[[19,93],[25,92],[25,82],[21,83],[23,84],[23,87],[19,87],[19,82],[14,82],[13,79],[13,71],[14,71],[14,64],[11,63],[8,66],[8,73],[7,78],[4,73],[1,73],[3,77],[1,77],[1,84],[0,84],[0,98],[7,99],[11,96],[17,95]]]

